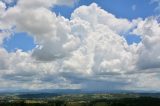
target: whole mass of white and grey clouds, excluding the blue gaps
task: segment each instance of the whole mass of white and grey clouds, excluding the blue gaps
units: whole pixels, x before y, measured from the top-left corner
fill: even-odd
[[[62,1],[20,0],[2,13],[2,29],[16,26],[15,31],[29,33],[37,47],[14,53],[1,47],[0,88],[158,88],[159,84],[149,85],[158,80],[160,63],[160,29],[155,18],[129,21],[93,3],[77,8],[69,20],[49,9]],[[142,42],[128,45],[123,34],[130,30]],[[143,83],[151,70],[155,78]],[[144,79],[136,80],[139,73]]]

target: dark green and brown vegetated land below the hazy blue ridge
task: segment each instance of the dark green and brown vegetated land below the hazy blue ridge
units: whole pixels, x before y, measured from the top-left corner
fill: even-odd
[[[48,96],[47,96],[48,95]],[[0,106],[160,106],[160,98],[140,94],[23,94],[0,96]]]

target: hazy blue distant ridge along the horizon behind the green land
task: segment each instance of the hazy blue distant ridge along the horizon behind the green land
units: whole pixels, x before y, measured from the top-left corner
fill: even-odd
[[[43,89],[43,90],[12,90],[0,92],[2,95],[17,95],[21,98],[36,97],[36,98],[45,98],[52,96],[59,96],[63,94],[135,94],[144,97],[158,97],[160,98],[160,92],[155,91],[130,91],[130,90],[83,90],[83,89]]]

